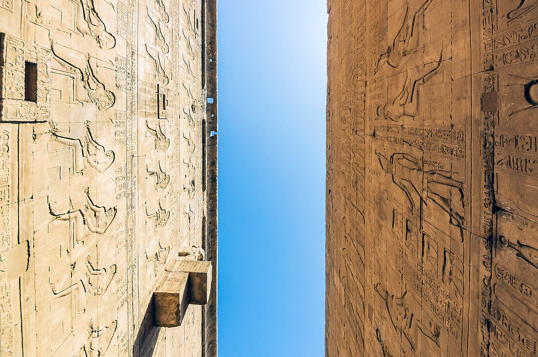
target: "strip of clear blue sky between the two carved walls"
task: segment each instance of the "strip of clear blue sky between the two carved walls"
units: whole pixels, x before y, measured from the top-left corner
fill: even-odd
[[[218,0],[218,353],[324,353],[325,0]]]

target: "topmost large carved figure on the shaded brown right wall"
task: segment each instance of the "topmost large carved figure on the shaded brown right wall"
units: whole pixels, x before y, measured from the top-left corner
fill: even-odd
[[[428,9],[432,1],[427,0],[424,2],[413,15],[409,11],[409,5],[406,4],[404,22],[394,37],[392,45],[388,46],[387,50],[376,60],[374,74],[378,72],[384,63],[393,68],[398,68],[401,60],[406,55],[419,48],[420,31],[424,28],[424,11]]]

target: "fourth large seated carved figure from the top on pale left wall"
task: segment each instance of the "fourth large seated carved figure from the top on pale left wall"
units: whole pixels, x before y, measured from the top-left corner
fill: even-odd
[[[91,233],[98,235],[104,234],[110,227],[112,221],[116,217],[116,207],[105,208],[97,206],[90,198],[89,188],[84,191],[86,193],[86,206],[83,209],[74,209],[73,203],[69,200],[70,209],[66,213],[56,214],[53,212],[51,204],[48,208],[54,221],[74,221],[75,222],[75,241],[81,242],[86,236],[86,229]]]

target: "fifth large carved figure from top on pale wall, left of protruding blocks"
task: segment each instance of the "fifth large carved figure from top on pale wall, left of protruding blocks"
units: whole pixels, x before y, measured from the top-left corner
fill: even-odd
[[[59,299],[70,294],[75,296],[75,315],[82,314],[88,303],[89,297],[103,295],[116,275],[116,264],[108,268],[95,269],[90,263],[90,257],[84,260],[87,272],[84,278],[65,288],[58,288],[56,283],[51,282],[52,294]],[[72,268],[73,269],[73,268]],[[88,297],[89,295],[89,297]]]

